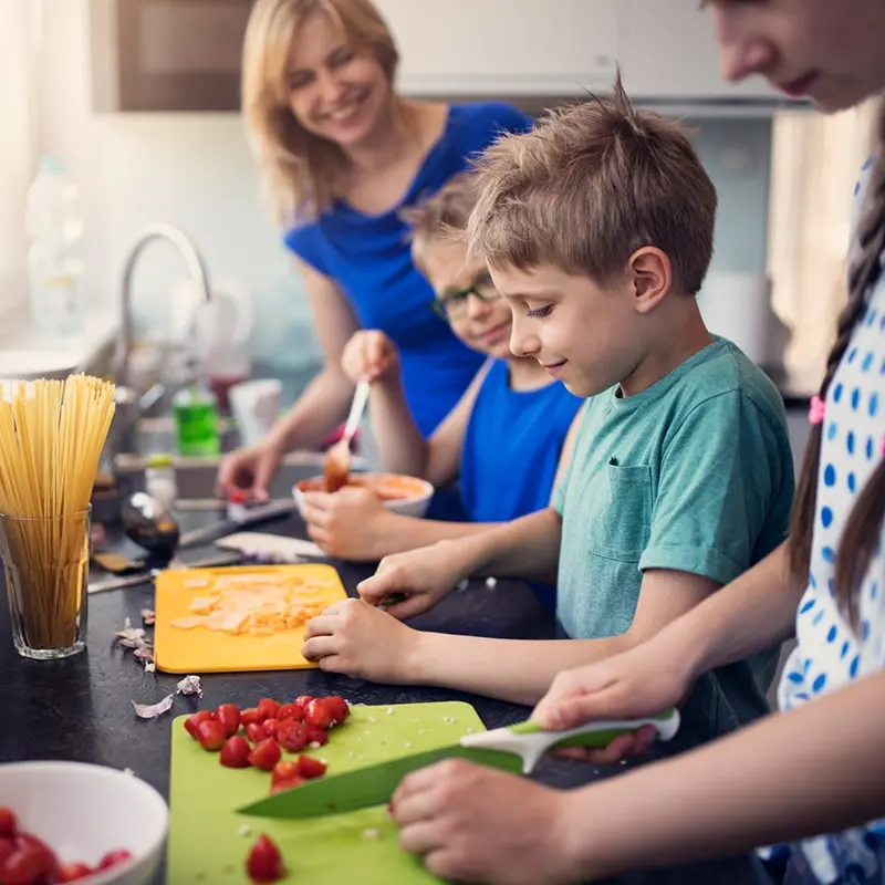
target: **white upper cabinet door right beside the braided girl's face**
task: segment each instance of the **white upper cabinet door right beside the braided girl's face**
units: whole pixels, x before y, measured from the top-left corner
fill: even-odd
[[[621,69],[627,92],[656,98],[783,97],[761,76],[727,83],[710,13],[698,0],[621,0]]]

